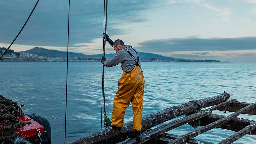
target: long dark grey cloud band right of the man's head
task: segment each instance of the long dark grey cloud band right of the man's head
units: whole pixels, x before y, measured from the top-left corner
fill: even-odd
[[[229,51],[256,49],[256,37],[241,38],[171,38],[139,43],[142,52]]]

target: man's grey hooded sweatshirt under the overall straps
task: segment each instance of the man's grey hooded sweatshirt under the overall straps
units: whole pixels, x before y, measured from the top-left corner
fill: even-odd
[[[136,62],[129,55],[128,52],[124,50],[126,48],[128,51],[132,53],[134,58],[137,60],[136,52],[132,49],[131,45],[125,45],[122,50],[118,51],[113,58],[105,61],[103,64],[106,67],[113,67],[121,63],[121,66],[124,68],[125,72],[130,72],[136,65]],[[139,66],[140,66],[140,58],[139,58]],[[141,69],[141,66],[140,66]],[[142,71],[142,69],[141,69]]]

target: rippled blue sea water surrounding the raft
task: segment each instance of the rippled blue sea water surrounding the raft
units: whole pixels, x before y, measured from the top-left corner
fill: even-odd
[[[256,102],[256,63],[142,62],[141,66],[145,77],[143,116],[224,91],[230,94],[230,99]],[[66,63],[0,62],[0,72],[0,94],[19,105],[24,103],[25,114],[48,118],[52,144],[64,143]],[[118,89],[117,81],[122,73],[120,65],[105,67],[106,112],[109,118]],[[67,142],[101,130],[101,84],[100,62],[68,63]],[[221,111],[213,113],[222,114]],[[238,117],[256,120],[251,115]],[[132,120],[130,105],[126,109],[124,123]],[[168,133],[184,135],[191,131],[193,128],[185,124]],[[218,143],[234,133],[214,128],[195,139]],[[256,143],[256,136],[246,135],[235,143]]]

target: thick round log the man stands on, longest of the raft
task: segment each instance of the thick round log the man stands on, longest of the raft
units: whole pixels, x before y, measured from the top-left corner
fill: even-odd
[[[208,97],[201,100],[196,100],[202,108],[217,105],[225,100],[229,99],[229,94],[227,92],[214,97]],[[160,110],[156,113],[150,114],[142,118],[141,131],[144,132],[147,129],[166,122],[172,118],[185,115],[197,110],[199,107],[195,102],[188,102],[171,108],[166,108]],[[97,132],[92,135],[83,137],[79,140],[70,142],[70,144],[112,144],[124,141],[135,135],[132,132],[133,121],[124,124],[121,130],[108,129],[105,131]]]

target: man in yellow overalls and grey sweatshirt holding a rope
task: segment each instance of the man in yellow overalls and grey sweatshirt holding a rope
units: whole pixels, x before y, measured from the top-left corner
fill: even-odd
[[[136,140],[139,141],[142,138],[140,132],[145,80],[138,53],[131,45],[124,45],[122,40],[117,39],[113,42],[106,33],[103,34],[103,38],[106,37],[106,41],[114,48],[116,54],[108,61],[106,61],[105,57],[102,57],[100,62],[106,67],[113,67],[121,63],[124,71],[118,81],[118,90],[114,98],[110,126],[121,130],[124,125],[125,109],[132,101],[133,131],[136,133]]]

